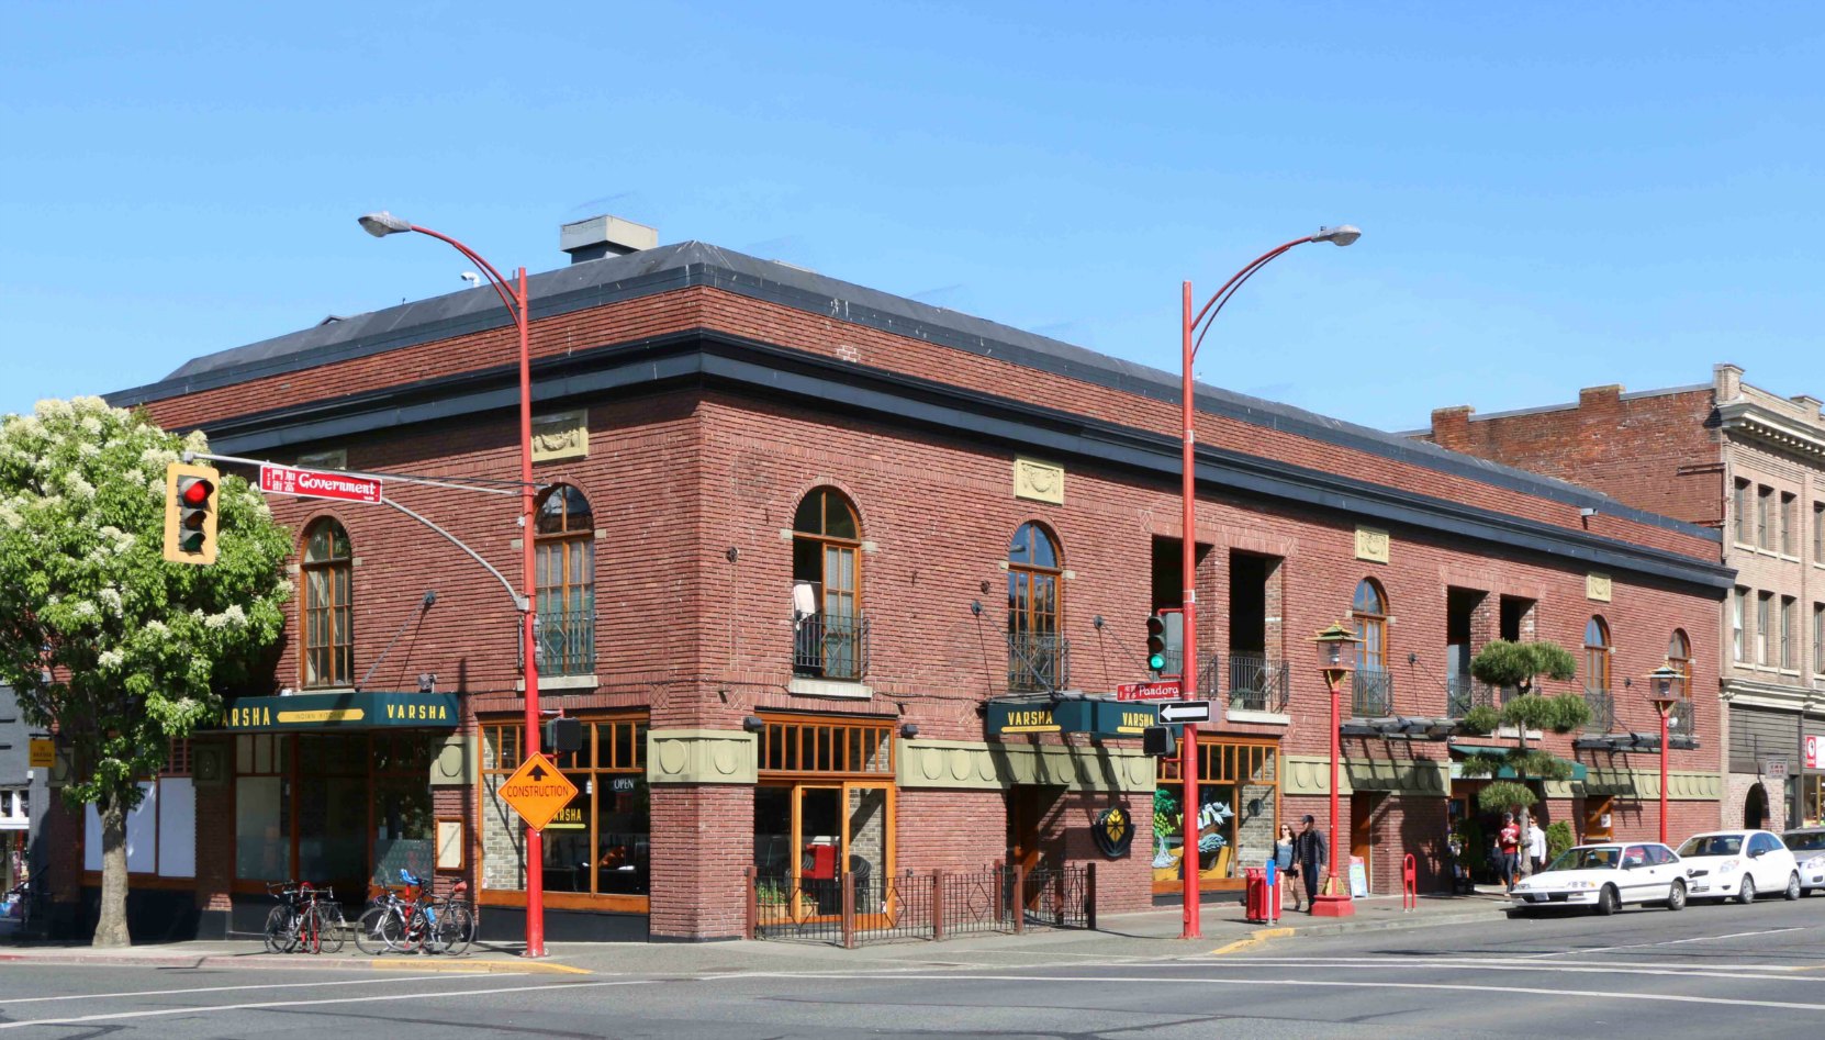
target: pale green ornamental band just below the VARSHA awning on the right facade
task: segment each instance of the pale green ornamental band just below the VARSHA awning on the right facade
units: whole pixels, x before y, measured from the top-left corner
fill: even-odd
[[[905,788],[1004,790],[1017,783],[1079,792],[1152,792],[1153,759],[1141,748],[900,741],[894,783]]]

